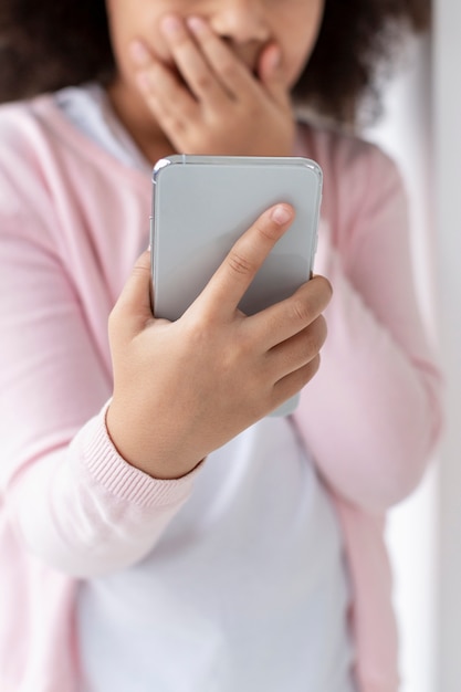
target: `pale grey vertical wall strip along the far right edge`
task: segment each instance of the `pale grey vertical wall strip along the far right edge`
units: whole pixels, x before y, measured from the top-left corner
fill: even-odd
[[[440,692],[461,690],[461,2],[436,0],[437,260],[447,427],[440,468]]]

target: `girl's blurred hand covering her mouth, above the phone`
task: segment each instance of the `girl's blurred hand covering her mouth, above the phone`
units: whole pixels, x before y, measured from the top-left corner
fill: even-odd
[[[198,17],[163,21],[177,71],[136,42],[133,55],[147,105],[177,151],[291,156],[294,118],[280,49],[258,56],[254,76]]]

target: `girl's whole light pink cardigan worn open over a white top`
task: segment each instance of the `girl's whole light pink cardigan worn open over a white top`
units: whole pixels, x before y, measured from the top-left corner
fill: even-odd
[[[0,108],[0,690],[74,692],[77,579],[150,551],[193,473],[145,475],[104,426],[107,315],[147,244],[149,177],[76,132],[46,96]],[[384,517],[423,473],[440,377],[394,165],[308,127],[296,154],[324,169],[316,271],[335,293],[322,367],[295,420],[345,537],[360,692],[396,692]]]

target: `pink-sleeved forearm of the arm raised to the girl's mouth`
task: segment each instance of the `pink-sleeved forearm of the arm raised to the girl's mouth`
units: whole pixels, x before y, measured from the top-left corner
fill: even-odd
[[[317,376],[296,413],[322,474],[343,496],[378,511],[418,483],[440,429],[440,375],[378,321],[331,250],[334,297]]]

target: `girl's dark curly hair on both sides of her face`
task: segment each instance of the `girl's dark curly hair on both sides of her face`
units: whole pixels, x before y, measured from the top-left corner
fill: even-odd
[[[402,30],[429,23],[430,0],[325,0],[297,103],[354,123],[364,97],[379,106],[377,67]],[[107,84],[115,70],[104,0],[1,0],[0,102],[71,84]]]

